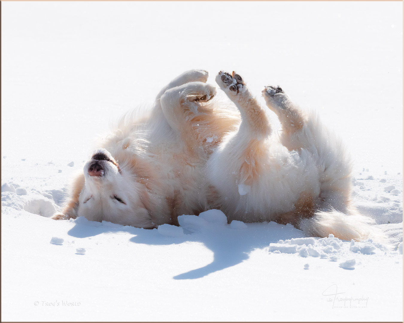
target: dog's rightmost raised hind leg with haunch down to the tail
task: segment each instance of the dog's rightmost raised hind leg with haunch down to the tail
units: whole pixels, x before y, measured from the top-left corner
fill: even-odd
[[[266,86],[262,92],[267,106],[281,122],[282,145],[290,151],[298,151],[302,159],[316,163],[320,182],[316,208],[356,214],[351,205],[352,165],[341,141],[321,124],[316,115],[306,115],[279,86]],[[324,217],[322,219],[324,222]]]

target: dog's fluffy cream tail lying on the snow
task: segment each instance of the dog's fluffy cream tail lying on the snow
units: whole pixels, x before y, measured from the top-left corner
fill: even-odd
[[[302,218],[299,227],[314,237],[328,237],[330,234],[342,240],[362,241],[373,239],[383,242],[384,234],[375,228],[375,220],[350,210],[349,214],[337,210],[316,211],[310,218]]]

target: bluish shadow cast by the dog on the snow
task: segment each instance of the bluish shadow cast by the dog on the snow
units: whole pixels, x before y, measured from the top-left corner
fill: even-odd
[[[275,222],[251,223],[245,229],[231,229],[229,224],[198,228],[195,232],[184,229],[185,234],[179,237],[169,237],[160,234],[159,230],[139,229],[121,226],[110,222],[90,222],[85,218],[77,218],[76,225],[70,229],[69,235],[78,238],[90,237],[101,233],[128,232],[134,236],[130,238],[133,243],[147,245],[171,245],[184,242],[203,243],[214,254],[213,261],[206,266],[182,273],[174,279],[196,279],[210,273],[240,264],[249,258],[250,252],[269,246],[269,243],[278,242],[296,237],[304,237],[302,231],[295,229],[291,224],[281,225]],[[179,228],[178,228],[179,229]],[[198,254],[195,254],[198,257]]]

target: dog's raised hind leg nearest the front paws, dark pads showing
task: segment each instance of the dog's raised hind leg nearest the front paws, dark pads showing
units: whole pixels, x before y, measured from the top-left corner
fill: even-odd
[[[240,195],[245,195],[265,172],[266,139],[271,133],[271,126],[264,109],[252,96],[240,75],[234,71],[232,74],[220,71],[216,82],[239,109],[241,124],[238,131],[215,154],[210,165],[216,165],[213,172],[218,176],[226,172],[228,178],[235,176]],[[221,184],[216,183],[215,186]]]

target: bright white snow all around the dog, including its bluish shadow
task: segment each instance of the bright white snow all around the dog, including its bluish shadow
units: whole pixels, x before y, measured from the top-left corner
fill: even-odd
[[[402,27],[402,2],[2,2],[2,321],[402,321]],[[318,111],[387,241],[47,218],[109,122],[191,68]]]

